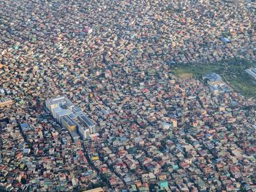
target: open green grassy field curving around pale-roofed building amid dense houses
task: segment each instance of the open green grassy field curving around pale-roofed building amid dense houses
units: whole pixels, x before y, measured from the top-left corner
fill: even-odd
[[[246,97],[256,96],[256,84],[249,74],[244,71],[253,66],[252,61],[244,59],[217,62],[214,64],[187,64],[176,66],[173,72],[177,77],[200,78],[206,73],[215,72],[222,76],[232,88]]]

